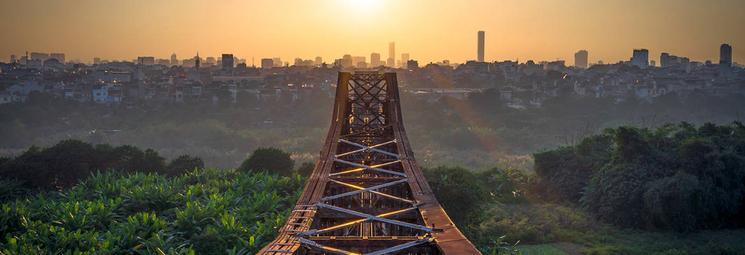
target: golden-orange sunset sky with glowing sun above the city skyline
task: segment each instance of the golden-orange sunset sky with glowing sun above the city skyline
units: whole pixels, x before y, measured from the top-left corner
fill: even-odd
[[[292,61],[343,54],[420,63],[476,58],[486,31],[486,60],[627,60],[647,48],[718,61],[733,46],[745,63],[742,0],[2,0],[0,60],[25,51],[64,52],[68,60],[137,56],[179,59],[234,53]]]

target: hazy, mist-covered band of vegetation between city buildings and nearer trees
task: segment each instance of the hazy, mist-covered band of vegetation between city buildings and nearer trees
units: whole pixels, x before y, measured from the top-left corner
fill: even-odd
[[[556,79],[566,82],[561,77]],[[736,94],[693,91],[653,101],[630,97],[616,102],[559,93],[541,108],[528,109],[506,107],[494,89],[463,99],[402,90],[401,103],[407,129],[416,130],[408,135],[420,164],[458,162],[480,170],[495,165],[530,170],[530,153],[574,144],[604,128],[680,121],[721,124],[745,116],[745,97]],[[239,95],[235,105],[137,102],[106,107],[34,95],[24,104],[0,105],[0,155],[17,155],[34,144],[79,139],[153,148],[166,158],[192,155],[217,168],[234,168],[260,147],[281,148],[296,160],[317,157],[331,117],[333,90],[309,91],[293,102],[256,102],[243,100],[244,96],[251,98]]]

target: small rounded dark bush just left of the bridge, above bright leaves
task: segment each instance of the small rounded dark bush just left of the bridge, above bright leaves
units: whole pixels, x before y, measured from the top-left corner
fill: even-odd
[[[243,161],[238,169],[244,172],[269,171],[280,175],[292,175],[295,161],[290,154],[277,148],[259,148]]]

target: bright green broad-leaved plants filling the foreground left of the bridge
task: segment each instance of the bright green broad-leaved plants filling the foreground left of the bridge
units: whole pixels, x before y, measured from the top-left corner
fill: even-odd
[[[234,170],[96,173],[0,204],[0,254],[254,254],[303,182]]]

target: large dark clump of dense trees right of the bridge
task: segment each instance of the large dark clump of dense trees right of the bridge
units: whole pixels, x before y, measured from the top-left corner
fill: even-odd
[[[692,231],[745,221],[745,126],[620,127],[535,154],[538,193],[626,227]]]

